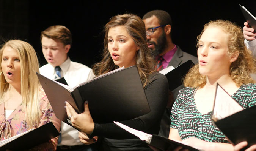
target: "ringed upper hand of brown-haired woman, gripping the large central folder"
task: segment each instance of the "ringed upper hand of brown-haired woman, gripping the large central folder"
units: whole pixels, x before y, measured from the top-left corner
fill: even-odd
[[[85,132],[86,134],[91,134],[94,129],[94,122],[88,108],[88,101],[85,101],[85,110],[81,114],[77,114],[74,108],[67,101],[65,103],[67,115],[70,117],[72,126],[74,126],[82,132]]]

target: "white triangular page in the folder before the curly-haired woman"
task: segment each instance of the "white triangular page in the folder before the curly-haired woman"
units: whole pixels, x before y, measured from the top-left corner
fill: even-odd
[[[242,106],[240,106],[223,88],[221,88],[220,85],[218,85],[215,96],[213,119],[220,120],[242,110]]]

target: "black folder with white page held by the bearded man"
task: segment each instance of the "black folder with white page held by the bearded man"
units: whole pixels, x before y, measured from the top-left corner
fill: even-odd
[[[188,70],[195,64],[188,60],[181,65],[174,68],[173,66],[168,66],[167,68],[159,71],[166,76],[169,83],[169,89],[173,91],[180,85],[182,85],[182,78],[187,74]]]

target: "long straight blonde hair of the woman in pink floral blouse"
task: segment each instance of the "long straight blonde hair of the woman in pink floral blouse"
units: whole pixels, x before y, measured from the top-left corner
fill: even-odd
[[[21,96],[24,111],[28,125],[37,127],[41,109],[39,105],[40,92],[42,91],[40,82],[36,75],[39,73],[39,63],[34,48],[27,42],[21,40],[9,40],[0,49],[0,60],[2,60],[3,50],[6,47],[13,48],[20,59],[21,70]],[[0,66],[2,61],[0,62]],[[0,69],[2,72],[2,68]],[[6,82],[3,74],[0,75],[0,104],[4,102],[3,97],[9,88],[9,83]]]

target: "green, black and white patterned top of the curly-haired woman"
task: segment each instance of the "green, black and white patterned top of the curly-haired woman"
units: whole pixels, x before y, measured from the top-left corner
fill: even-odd
[[[225,135],[210,120],[212,111],[201,114],[195,104],[196,88],[179,91],[171,110],[170,128],[178,129],[182,140],[196,137],[207,142],[229,143]],[[231,96],[244,109],[256,105],[256,84],[246,84]]]

